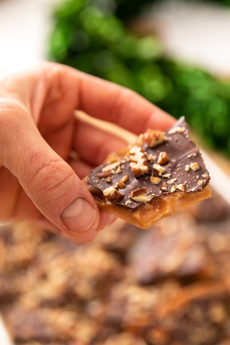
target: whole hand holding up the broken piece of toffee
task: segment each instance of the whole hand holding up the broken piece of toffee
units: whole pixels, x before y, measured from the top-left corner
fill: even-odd
[[[0,82],[0,221],[31,219],[86,242],[115,217],[81,178],[124,141],[73,116],[79,109],[136,134],[174,119],[135,92],[55,63]],[[69,151],[79,154],[78,160]]]

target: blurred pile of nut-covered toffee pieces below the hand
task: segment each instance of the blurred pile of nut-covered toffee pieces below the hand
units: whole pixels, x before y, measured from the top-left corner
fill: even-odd
[[[1,313],[16,345],[229,345],[230,214],[217,195],[85,246],[1,229]],[[153,231],[154,230],[154,231]]]

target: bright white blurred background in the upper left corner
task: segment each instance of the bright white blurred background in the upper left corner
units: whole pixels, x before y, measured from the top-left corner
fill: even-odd
[[[53,3],[57,0],[0,1],[0,78],[45,59]]]

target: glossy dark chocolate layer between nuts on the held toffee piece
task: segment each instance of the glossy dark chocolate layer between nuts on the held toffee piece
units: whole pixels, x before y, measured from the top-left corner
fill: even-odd
[[[173,128],[175,130],[172,130]],[[146,142],[141,146],[146,157],[153,156],[155,158],[159,157],[160,152],[167,153],[169,162],[161,165],[165,171],[162,173],[162,176],[160,176],[160,183],[153,184],[150,180],[150,176],[158,176],[157,170],[153,169],[153,164],[158,164],[157,158],[148,161],[149,173],[141,175],[138,178],[133,174],[130,167],[130,161],[122,161],[121,172],[119,174],[112,174],[109,184],[111,186],[116,186],[123,176],[127,175],[129,177],[124,188],[117,187],[117,190],[122,193],[124,197],[117,201],[116,205],[123,205],[124,207],[134,210],[144,204],[129,198],[131,191],[138,188],[146,188],[148,195],[153,194],[154,197],[158,197],[164,194],[178,193],[180,191],[179,188],[176,188],[178,185],[185,184],[185,193],[188,193],[201,191],[209,183],[210,177],[208,170],[201,157],[199,148],[189,137],[189,128],[184,117],[181,117],[172,128],[166,131],[166,137],[168,138],[167,141],[153,148],[150,148]],[[93,169],[88,176],[89,183],[101,192],[108,188],[108,182],[104,178],[98,179],[98,174],[101,173],[102,168],[105,166],[106,165],[98,166]],[[194,166],[198,166],[198,169],[195,170]],[[167,174],[171,175],[169,176]],[[164,177],[164,175],[166,175],[166,177]],[[204,177],[202,175],[204,175]],[[175,187],[175,191],[173,192],[171,191],[172,187]],[[174,188],[172,190],[174,190]],[[127,204],[127,200],[132,201],[132,203]]]

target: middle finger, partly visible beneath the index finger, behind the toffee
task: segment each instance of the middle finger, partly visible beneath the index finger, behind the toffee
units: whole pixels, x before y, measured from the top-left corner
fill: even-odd
[[[73,148],[89,164],[96,166],[113,151],[127,146],[121,140],[101,129],[77,120],[73,137]]]

